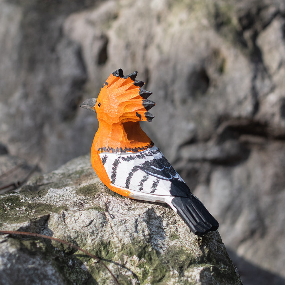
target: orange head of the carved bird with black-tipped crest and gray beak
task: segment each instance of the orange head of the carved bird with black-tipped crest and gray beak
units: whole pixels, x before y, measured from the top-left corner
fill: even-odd
[[[97,113],[98,120],[108,123],[149,121],[154,115],[148,110],[155,105],[148,100],[152,94],[142,89],[144,82],[135,80],[137,71],[124,76],[114,71],[103,84],[98,98],[86,99],[80,107]]]

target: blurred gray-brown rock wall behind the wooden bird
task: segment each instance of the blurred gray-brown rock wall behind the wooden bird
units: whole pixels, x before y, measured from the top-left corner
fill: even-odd
[[[0,0],[0,179],[89,152],[79,105],[118,68],[153,92],[143,128],[243,283],[284,284],[284,0]]]

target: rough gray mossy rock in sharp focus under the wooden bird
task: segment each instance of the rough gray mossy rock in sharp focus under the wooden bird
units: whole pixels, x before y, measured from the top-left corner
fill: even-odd
[[[107,189],[89,156],[32,177],[0,196],[2,230],[74,243],[102,258],[120,284],[241,284],[219,233],[192,234],[166,204]],[[79,251],[58,242],[0,236],[0,284],[115,284]]]

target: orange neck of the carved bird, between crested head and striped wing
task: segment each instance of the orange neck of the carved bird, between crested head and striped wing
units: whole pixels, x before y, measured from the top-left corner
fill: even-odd
[[[136,152],[153,145],[141,129],[140,122],[108,124],[100,120],[93,141],[93,148],[100,152]]]

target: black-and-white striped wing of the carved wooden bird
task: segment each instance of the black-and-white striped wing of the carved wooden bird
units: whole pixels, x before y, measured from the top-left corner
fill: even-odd
[[[114,186],[146,194],[175,196],[173,184],[179,183],[180,188],[185,187],[190,192],[156,146],[141,152],[102,152],[100,157]]]

